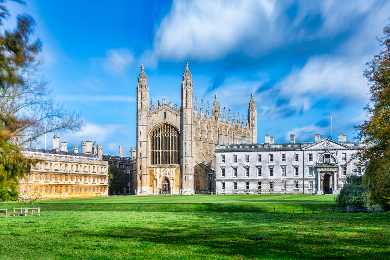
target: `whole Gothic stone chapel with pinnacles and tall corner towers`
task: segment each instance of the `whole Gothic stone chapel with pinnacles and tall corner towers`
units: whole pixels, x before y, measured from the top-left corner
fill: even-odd
[[[215,145],[257,143],[257,110],[249,101],[246,124],[244,115],[225,108],[221,120],[220,105],[215,95],[213,108],[203,100],[198,113],[193,97],[193,82],[188,62],[181,82],[181,107],[166,101],[149,104],[149,85],[141,66],[137,85],[137,171],[136,194],[209,194],[215,191]]]

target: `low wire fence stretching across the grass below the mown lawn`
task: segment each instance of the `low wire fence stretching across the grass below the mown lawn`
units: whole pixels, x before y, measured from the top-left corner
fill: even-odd
[[[192,213],[243,213],[243,212],[275,212],[275,213],[338,213],[338,212],[383,212],[389,211],[389,207],[327,207],[321,205],[302,206],[147,206],[147,205],[40,205],[41,212],[54,211],[122,211],[122,212],[192,212]]]

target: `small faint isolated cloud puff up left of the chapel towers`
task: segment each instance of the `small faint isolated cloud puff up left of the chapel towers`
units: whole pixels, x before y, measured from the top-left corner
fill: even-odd
[[[134,62],[134,54],[126,49],[107,50],[103,67],[112,74],[124,75],[128,67]]]

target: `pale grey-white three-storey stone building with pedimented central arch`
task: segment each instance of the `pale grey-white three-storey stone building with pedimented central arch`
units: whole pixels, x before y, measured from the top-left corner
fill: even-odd
[[[339,141],[316,134],[314,142],[264,143],[216,146],[218,194],[339,194],[347,175],[362,174],[351,154],[370,144]],[[358,159],[358,158],[357,158]]]

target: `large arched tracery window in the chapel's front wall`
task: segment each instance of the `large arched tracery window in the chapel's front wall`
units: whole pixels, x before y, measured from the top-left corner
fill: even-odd
[[[156,127],[150,137],[151,164],[179,164],[180,136],[166,124]]]

